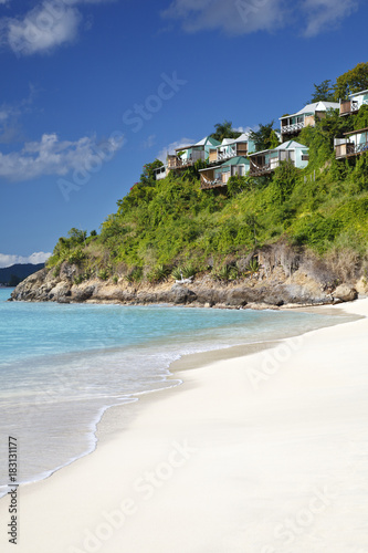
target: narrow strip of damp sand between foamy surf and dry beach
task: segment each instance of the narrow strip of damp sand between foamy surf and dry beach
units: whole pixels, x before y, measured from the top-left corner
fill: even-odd
[[[337,309],[338,309],[339,311],[344,311],[345,313],[350,314],[350,315],[356,314],[357,316],[364,316],[362,313],[359,313],[359,311],[361,311],[359,307],[359,305],[361,305],[361,302],[366,302],[365,305],[368,305],[367,300],[360,300],[360,301],[354,302],[351,304],[338,305],[338,307],[330,307],[330,306],[324,307],[323,306],[319,309],[320,310],[327,309],[327,310],[334,311],[335,313],[337,312]],[[313,311],[315,311],[315,310],[313,310]],[[367,311],[365,311],[365,313],[367,313]],[[349,323],[349,325],[353,325],[353,324],[357,324],[359,322],[361,322],[361,320],[356,320],[355,322],[347,321],[346,325],[348,323]],[[346,325],[345,325],[345,322],[341,321],[340,323],[336,323],[336,325],[334,325],[334,326],[327,326],[327,327],[318,328],[316,331],[307,331],[306,333],[299,335],[299,337],[301,336],[311,336],[311,334],[318,334],[322,331],[326,331],[326,330],[328,331],[330,328],[340,328],[340,327],[346,326]],[[182,358],[180,358],[179,361],[171,363],[171,365],[169,367],[170,375],[168,376],[168,380],[170,380],[170,378],[178,379],[178,375],[181,376],[182,378],[180,378],[180,379],[182,379],[182,384],[180,385],[180,388],[182,389],[182,392],[188,394],[188,392],[190,393],[190,390],[196,390],[198,387],[198,383],[196,383],[194,375],[199,374],[199,373],[201,373],[201,374],[206,373],[206,378],[204,378],[204,380],[206,380],[204,388],[206,388],[206,384],[208,384],[208,385],[211,384],[208,382],[210,378],[210,375],[208,373],[209,365],[211,365],[211,367],[213,368],[213,367],[220,366],[221,364],[223,364],[223,365],[227,364],[227,366],[229,367],[231,365],[232,361],[236,362],[236,361],[244,358],[244,351],[245,349],[248,349],[246,357],[252,357],[252,358],[259,357],[260,358],[260,356],[262,356],[262,353],[264,353],[265,351],[267,351],[267,349],[271,352],[275,351],[275,348],[277,348],[277,346],[280,346],[281,344],[285,344],[287,342],[291,343],[292,341],[293,341],[293,337],[288,337],[288,338],[281,340],[281,341],[274,341],[272,343],[265,342],[265,343],[261,343],[261,344],[246,344],[245,346],[232,346],[229,348],[215,349],[212,352],[204,352],[204,353],[199,353],[199,354],[196,353],[196,354],[186,355]],[[264,346],[265,344],[267,344],[267,346],[266,346],[267,348],[261,347],[262,345]],[[251,346],[252,351],[250,351],[250,346]],[[221,354],[219,354],[219,352],[221,352]],[[181,375],[181,373],[182,373],[182,375]],[[177,386],[174,386],[174,387],[177,387]],[[84,465],[84,461],[86,461],[86,465],[88,465],[88,466],[95,465],[94,457],[96,456],[97,452],[98,453],[99,453],[99,451],[102,452],[105,447],[111,448],[114,446],[113,449],[114,448],[116,449],[117,441],[120,441],[122,439],[124,439],[125,435],[129,435],[130,438],[133,438],[133,441],[135,441],[134,436],[132,436],[132,432],[134,430],[134,429],[132,429],[132,427],[135,427],[137,425],[137,421],[141,417],[144,417],[146,419],[146,422],[147,422],[147,415],[148,415],[147,411],[149,411],[151,409],[161,410],[161,407],[159,407],[158,404],[161,405],[161,404],[167,404],[167,403],[175,403],[176,398],[178,399],[179,396],[182,395],[181,392],[180,392],[180,394],[178,394],[178,390],[174,390],[174,387],[162,388],[162,389],[167,390],[167,394],[160,398],[161,399],[160,401],[157,401],[158,398],[157,398],[156,394],[154,395],[153,392],[149,392],[149,393],[145,393],[143,395],[138,395],[140,400],[135,401],[134,404],[129,403],[129,404],[117,405],[117,406],[113,406],[113,407],[107,408],[107,410],[105,410],[101,421],[97,425],[97,432],[96,432],[97,444],[96,444],[96,448],[94,449],[92,455],[91,453],[86,455],[86,456],[80,458],[77,461],[73,462],[72,465],[64,467],[64,469],[57,470],[56,472],[53,472],[52,477],[49,477],[43,481],[39,481],[36,483],[29,484],[29,486],[22,488],[22,490],[21,490],[22,495],[24,494],[24,498],[32,498],[33,495],[38,497],[40,493],[42,495],[44,493],[44,491],[48,495],[48,488],[49,487],[54,488],[54,486],[56,486],[56,488],[57,488],[60,482],[63,482],[66,478],[69,478],[70,474],[75,473],[75,472],[80,472],[80,467],[82,467],[82,465]],[[132,396],[135,397],[136,395],[133,394]],[[183,424],[183,422],[185,421],[181,420],[181,424]],[[147,436],[146,436],[146,438],[147,438]],[[130,467],[130,469],[132,469],[132,467]],[[50,482],[52,482],[52,483],[50,484]],[[55,482],[55,484],[53,482]],[[146,484],[146,486],[148,486],[148,484]],[[32,504],[32,499],[30,499],[29,502],[30,502],[30,504]],[[2,500],[2,503],[0,501],[0,513],[1,513],[1,507],[3,503],[4,503],[3,500]],[[128,515],[126,515],[126,517],[128,517]],[[0,543],[2,543],[2,542],[3,542],[3,535],[0,536]],[[103,545],[104,541],[101,541],[101,543]],[[112,543],[109,543],[109,545],[112,545]],[[114,551],[115,552],[115,549],[109,549],[109,545],[107,543],[106,544],[107,549],[103,547],[102,551],[108,551],[108,552]],[[4,544],[4,546],[7,546],[7,544]],[[34,546],[34,549],[32,549],[33,546]],[[21,549],[21,551],[23,551],[23,550]],[[25,547],[24,551],[27,551],[27,552],[33,552],[33,551],[43,552],[45,550],[42,550],[42,549],[38,550],[36,543],[34,543],[34,544],[31,543],[31,544],[28,544],[28,547]],[[52,550],[52,551],[56,552],[56,551],[69,551],[69,550],[64,550],[64,549],[59,550],[57,549],[57,550]],[[81,546],[80,546],[78,552],[80,551],[83,551],[83,549],[81,550]],[[116,549],[116,551],[118,551],[118,550]],[[139,551],[140,552],[143,550],[137,549],[137,550],[132,550],[132,551],[137,551],[137,552]],[[155,551],[156,551],[156,549],[155,549]],[[157,550],[157,551],[159,551],[159,550]],[[165,549],[165,551],[169,551],[169,549],[168,550]],[[181,550],[172,550],[172,551],[181,551]],[[182,550],[182,551],[187,551],[187,550]],[[199,550],[199,551],[202,551],[202,550]],[[203,551],[207,551],[207,550],[203,550]],[[212,551],[212,550],[208,550],[208,551]],[[222,550],[219,550],[219,551],[222,551]],[[225,551],[225,550],[223,550],[223,551]],[[229,551],[238,551],[238,550],[234,549],[234,550],[229,550]]]

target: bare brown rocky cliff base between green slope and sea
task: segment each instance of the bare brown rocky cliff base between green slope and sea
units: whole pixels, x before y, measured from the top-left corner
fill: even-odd
[[[351,284],[326,288],[303,270],[291,276],[282,268],[260,271],[232,283],[215,282],[209,274],[178,283],[172,279],[160,284],[129,284],[124,278],[91,279],[74,283],[77,268],[63,263],[60,274],[42,269],[21,282],[12,292],[13,301],[53,301],[59,303],[122,303],[191,305],[206,307],[270,309],[292,305],[318,305],[353,301],[358,296]]]

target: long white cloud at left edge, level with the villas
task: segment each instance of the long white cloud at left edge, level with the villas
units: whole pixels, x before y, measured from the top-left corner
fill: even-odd
[[[55,133],[40,142],[29,142],[20,152],[0,153],[0,178],[31,180],[45,175],[66,175],[71,170],[96,173],[124,144],[123,135],[96,143],[94,137],[61,142]]]

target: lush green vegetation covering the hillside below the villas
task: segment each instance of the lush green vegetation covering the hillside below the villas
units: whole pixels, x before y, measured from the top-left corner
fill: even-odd
[[[317,88],[317,87],[316,87]],[[118,200],[101,232],[72,229],[55,246],[48,267],[78,265],[76,283],[97,275],[159,281],[175,268],[231,278],[239,263],[280,241],[315,260],[344,262],[362,274],[368,244],[368,157],[336,160],[334,137],[368,127],[368,106],[339,117],[329,111],[296,138],[309,147],[306,169],[284,161],[271,177],[232,177],[228,186],[201,190],[194,167],[156,181],[156,160]],[[238,261],[238,263],[236,263]],[[188,267],[187,267],[188,269]]]

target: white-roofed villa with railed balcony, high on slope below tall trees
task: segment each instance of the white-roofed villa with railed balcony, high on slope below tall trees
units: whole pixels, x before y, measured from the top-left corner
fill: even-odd
[[[304,127],[314,127],[316,119],[326,117],[328,109],[338,109],[339,107],[340,104],[337,102],[315,102],[297,113],[280,117],[282,139],[285,140],[297,135]]]

